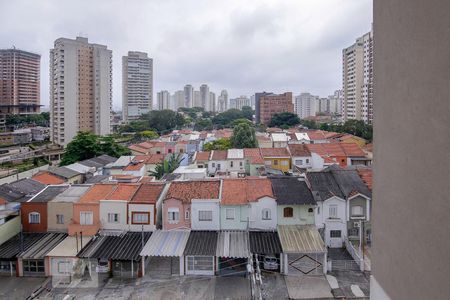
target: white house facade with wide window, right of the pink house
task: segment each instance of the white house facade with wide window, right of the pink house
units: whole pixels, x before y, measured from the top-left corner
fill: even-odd
[[[192,230],[220,230],[219,199],[192,199]]]

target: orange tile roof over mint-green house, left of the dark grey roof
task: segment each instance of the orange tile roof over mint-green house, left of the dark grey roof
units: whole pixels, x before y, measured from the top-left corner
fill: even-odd
[[[267,178],[224,179],[222,185],[223,205],[241,205],[257,201],[259,198],[274,197],[272,184]]]

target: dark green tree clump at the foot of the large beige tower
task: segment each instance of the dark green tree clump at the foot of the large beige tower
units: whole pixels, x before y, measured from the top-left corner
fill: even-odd
[[[98,137],[91,132],[79,132],[67,144],[60,165],[70,165],[102,154],[119,157],[129,153],[127,148],[117,144],[112,137]]]

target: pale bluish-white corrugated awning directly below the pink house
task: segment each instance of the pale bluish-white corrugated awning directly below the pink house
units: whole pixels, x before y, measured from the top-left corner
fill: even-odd
[[[141,256],[182,256],[189,239],[188,230],[156,230],[145,244]]]

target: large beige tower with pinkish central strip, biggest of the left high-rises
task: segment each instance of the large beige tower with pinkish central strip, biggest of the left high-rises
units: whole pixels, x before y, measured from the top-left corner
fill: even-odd
[[[50,50],[51,141],[66,145],[78,131],[111,133],[112,51],[88,39],[60,38]]]

